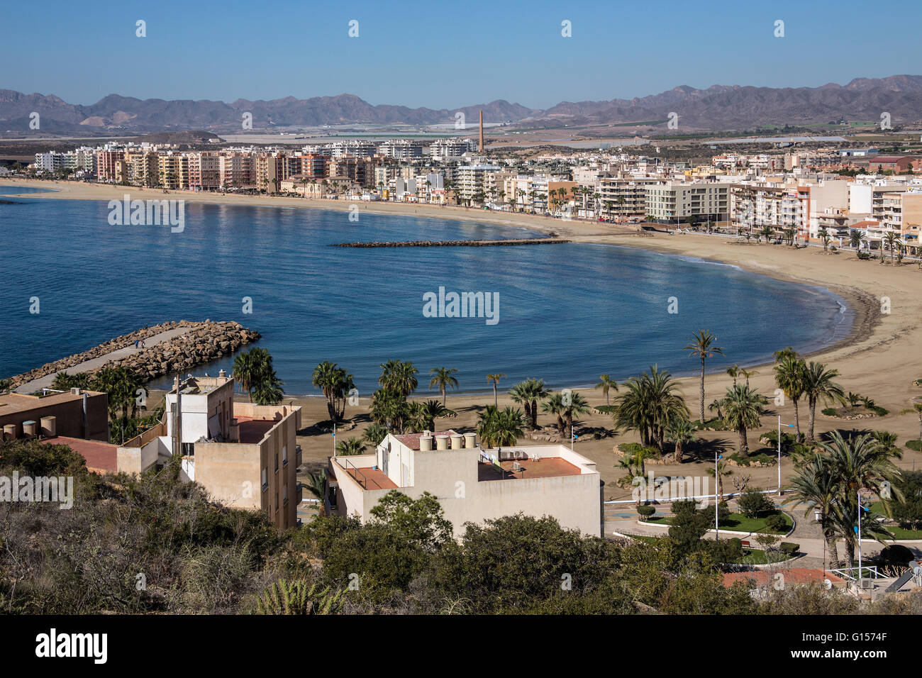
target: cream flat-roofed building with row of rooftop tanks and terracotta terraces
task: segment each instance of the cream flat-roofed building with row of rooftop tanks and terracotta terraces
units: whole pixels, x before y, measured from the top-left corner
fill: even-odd
[[[434,494],[455,536],[467,522],[513,516],[557,518],[561,526],[602,536],[602,482],[596,462],[562,445],[483,449],[477,434],[387,434],[374,454],[328,458],[325,509],[371,518],[392,490]]]

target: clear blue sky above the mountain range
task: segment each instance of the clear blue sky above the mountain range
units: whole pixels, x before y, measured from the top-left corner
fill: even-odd
[[[146,38],[135,35],[137,19]],[[571,38],[561,37],[564,19]],[[776,19],[784,38],[774,37]],[[6,2],[0,89],[81,104],[112,93],[233,101],[349,92],[374,104],[546,108],[679,85],[919,75],[920,29],[918,0]]]

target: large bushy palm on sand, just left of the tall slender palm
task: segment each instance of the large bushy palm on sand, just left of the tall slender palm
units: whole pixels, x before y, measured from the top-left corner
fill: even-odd
[[[679,383],[668,371],[652,365],[643,375],[632,376],[615,398],[613,417],[619,428],[637,431],[641,444],[655,445],[663,451],[665,432],[669,424],[689,415]]]

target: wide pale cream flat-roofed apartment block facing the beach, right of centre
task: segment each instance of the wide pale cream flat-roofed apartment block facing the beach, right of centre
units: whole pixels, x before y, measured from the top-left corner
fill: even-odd
[[[665,182],[644,185],[647,215],[660,221],[727,219],[732,184]]]

